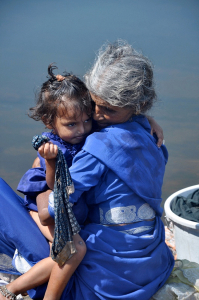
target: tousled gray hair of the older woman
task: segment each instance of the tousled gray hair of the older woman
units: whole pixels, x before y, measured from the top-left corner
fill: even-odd
[[[130,106],[137,114],[156,100],[151,62],[122,40],[100,48],[85,82],[91,93],[110,105]]]

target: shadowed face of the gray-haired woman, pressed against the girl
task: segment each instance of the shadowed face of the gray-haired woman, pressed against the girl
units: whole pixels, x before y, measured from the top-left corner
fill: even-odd
[[[97,122],[100,128],[105,128],[113,124],[127,122],[133,115],[133,109],[129,107],[118,107],[108,104],[100,97],[91,94],[92,100],[95,102],[95,112],[93,119]]]

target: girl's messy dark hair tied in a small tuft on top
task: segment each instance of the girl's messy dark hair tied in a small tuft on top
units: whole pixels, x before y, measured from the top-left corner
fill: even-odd
[[[55,65],[48,66],[48,80],[43,83],[36,96],[36,106],[29,109],[28,116],[35,121],[43,121],[45,125],[52,125],[58,116],[58,107],[75,109],[91,114],[91,98],[83,81],[75,75],[64,73],[54,75]]]

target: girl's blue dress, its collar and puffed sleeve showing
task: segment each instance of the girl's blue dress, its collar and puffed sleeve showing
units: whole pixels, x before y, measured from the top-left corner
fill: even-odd
[[[83,141],[79,144],[71,145],[63,141],[58,135],[53,134],[52,132],[43,132],[42,135],[47,136],[53,144],[59,146],[62,153],[64,154],[68,167],[72,165],[73,157],[77,154],[77,152],[81,150],[84,144]],[[45,159],[41,157],[38,152],[37,155],[40,159],[41,167],[28,170],[21,178],[17,187],[17,190],[25,195],[24,204],[26,205],[26,207],[30,210],[35,211],[37,211],[37,195],[49,189],[46,184]]]

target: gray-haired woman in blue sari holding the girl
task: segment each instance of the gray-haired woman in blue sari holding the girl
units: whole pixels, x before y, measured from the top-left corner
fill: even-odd
[[[157,146],[144,116],[156,99],[152,66],[118,41],[99,51],[85,80],[98,131],[74,158],[70,201],[78,203],[84,193],[88,216],[81,236],[87,253],[62,299],[147,300],[174,264],[160,206],[168,153]],[[43,145],[40,154],[49,149]],[[56,288],[55,278],[52,272],[45,299]]]

